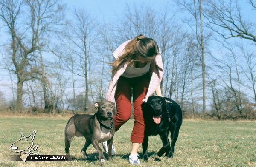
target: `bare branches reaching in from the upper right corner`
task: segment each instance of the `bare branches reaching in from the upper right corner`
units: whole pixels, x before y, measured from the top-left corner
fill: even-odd
[[[249,0],[255,9],[254,0]],[[239,37],[253,41],[256,44],[255,23],[244,18],[238,1],[208,0],[205,16],[208,27],[225,39]]]

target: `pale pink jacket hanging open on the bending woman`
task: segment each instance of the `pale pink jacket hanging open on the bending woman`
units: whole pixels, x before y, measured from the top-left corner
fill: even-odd
[[[117,59],[119,56],[122,55],[122,52],[124,51],[125,45],[131,40],[125,41],[122,43],[114,52],[113,56]],[[106,100],[114,102],[114,96],[116,93],[116,85],[119,77],[125,72],[125,69],[127,67],[127,64],[124,63],[119,69],[112,72],[111,80],[109,82],[108,86],[108,92],[106,95]],[[151,73],[151,79],[148,86],[148,91],[146,93],[145,98],[143,99],[143,102],[147,102],[148,97],[151,96],[154,91],[156,91],[157,87],[160,85],[162,78],[163,78],[163,61],[160,54],[157,54],[155,57],[155,64],[151,63],[150,69]]]

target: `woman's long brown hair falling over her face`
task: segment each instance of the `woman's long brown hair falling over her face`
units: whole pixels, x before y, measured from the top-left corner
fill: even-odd
[[[157,42],[152,38],[148,38],[140,34],[132,39],[125,46],[124,53],[118,59],[110,63],[113,68],[111,71],[117,70],[123,63],[128,65],[133,63],[137,55],[143,57],[153,57],[159,53]]]

